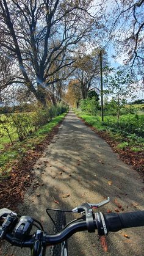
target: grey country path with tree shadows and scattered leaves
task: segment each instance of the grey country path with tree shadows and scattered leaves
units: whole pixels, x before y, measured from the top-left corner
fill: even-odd
[[[107,143],[70,112],[52,144],[35,164],[35,181],[40,186],[27,191],[20,212],[43,221],[51,232],[46,207],[74,208],[83,202],[99,202],[107,196],[110,203],[101,208],[115,211],[114,199],[124,211],[143,210],[143,183],[139,174],[124,164]],[[110,182],[109,182],[110,181]],[[63,195],[70,194],[63,198]],[[54,200],[59,202],[57,205]],[[121,210],[120,210],[121,212]],[[73,216],[68,216],[71,219]],[[74,216],[76,218],[76,216]],[[144,227],[126,229],[107,236],[107,255],[144,255]],[[124,234],[129,236],[124,237]],[[70,256],[105,255],[96,233],[81,232],[70,238]],[[3,255],[29,255],[26,249],[6,246]]]

